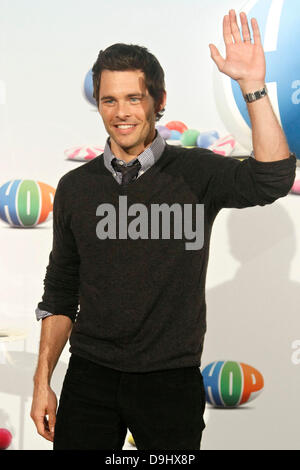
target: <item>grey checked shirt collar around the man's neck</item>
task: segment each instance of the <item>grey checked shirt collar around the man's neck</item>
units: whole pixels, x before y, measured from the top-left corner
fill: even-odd
[[[112,167],[111,162],[114,158],[117,158],[117,157],[115,157],[115,155],[111,151],[109,140],[110,139],[108,137],[106,144],[105,144],[105,148],[104,148],[104,165],[109,171],[113,173],[115,170]],[[136,160],[139,160],[141,164],[141,170],[145,172],[152,165],[154,165],[154,163],[161,157],[165,149],[165,146],[166,146],[165,140],[160,135],[160,133],[156,131],[156,137],[153,140],[152,144],[148,148],[146,148],[140,155],[138,155],[138,157],[136,157],[134,160],[131,160],[129,163],[124,162],[124,165],[131,166],[136,162]],[[120,160],[120,159],[117,158],[117,160]]]

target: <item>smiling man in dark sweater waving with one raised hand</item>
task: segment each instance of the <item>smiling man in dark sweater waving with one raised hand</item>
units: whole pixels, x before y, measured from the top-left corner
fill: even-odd
[[[241,32],[234,10],[224,17],[226,58],[212,44],[210,50],[248,102],[255,158],[167,145],[155,130],[166,103],[164,75],[145,48],[116,44],[93,67],[110,137],[104,155],[59,181],[37,309],[43,320],[31,417],[54,449],[121,449],[127,428],[138,449],[200,449],[213,221],[223,207],[272,203],[295,177],[295,156],[265,89],[257,22],[252,43],[246,15],[240,19]],[[56,416],[50,379],[69,337]]]

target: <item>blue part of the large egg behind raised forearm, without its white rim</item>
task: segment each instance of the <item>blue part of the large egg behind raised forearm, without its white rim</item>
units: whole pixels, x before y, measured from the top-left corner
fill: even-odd
[[[266,55],[266,83],[273,87],[272,103],[278,106],[291,151],[300,158],[299,0],[258,0],[251,3],[254,6],[248,10],[248,18],[256,18],[260,27]],[[239,111],[250,127],[239,85],[234,80],[231,84]]]

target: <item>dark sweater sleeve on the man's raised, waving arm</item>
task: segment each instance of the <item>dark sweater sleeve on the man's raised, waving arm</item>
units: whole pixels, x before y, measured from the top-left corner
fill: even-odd
[[[296,175],[296,157],[261,162],[252,157],[211,156],[215,165],[208,192],[217,209],[271,204],[290,191]]]

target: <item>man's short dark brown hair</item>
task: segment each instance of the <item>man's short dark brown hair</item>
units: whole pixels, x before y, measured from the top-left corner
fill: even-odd
[[[146,47],[134,44],[113,44],[104,51],[100,51],[97,61],[93,65],[93,97],[99,107],[99,91],[102,70],[142,70],[149,94],[159,109],[165,92],[164,71],[151,52]],[[156,113],[156,121],[159,121],[164,109]]]

